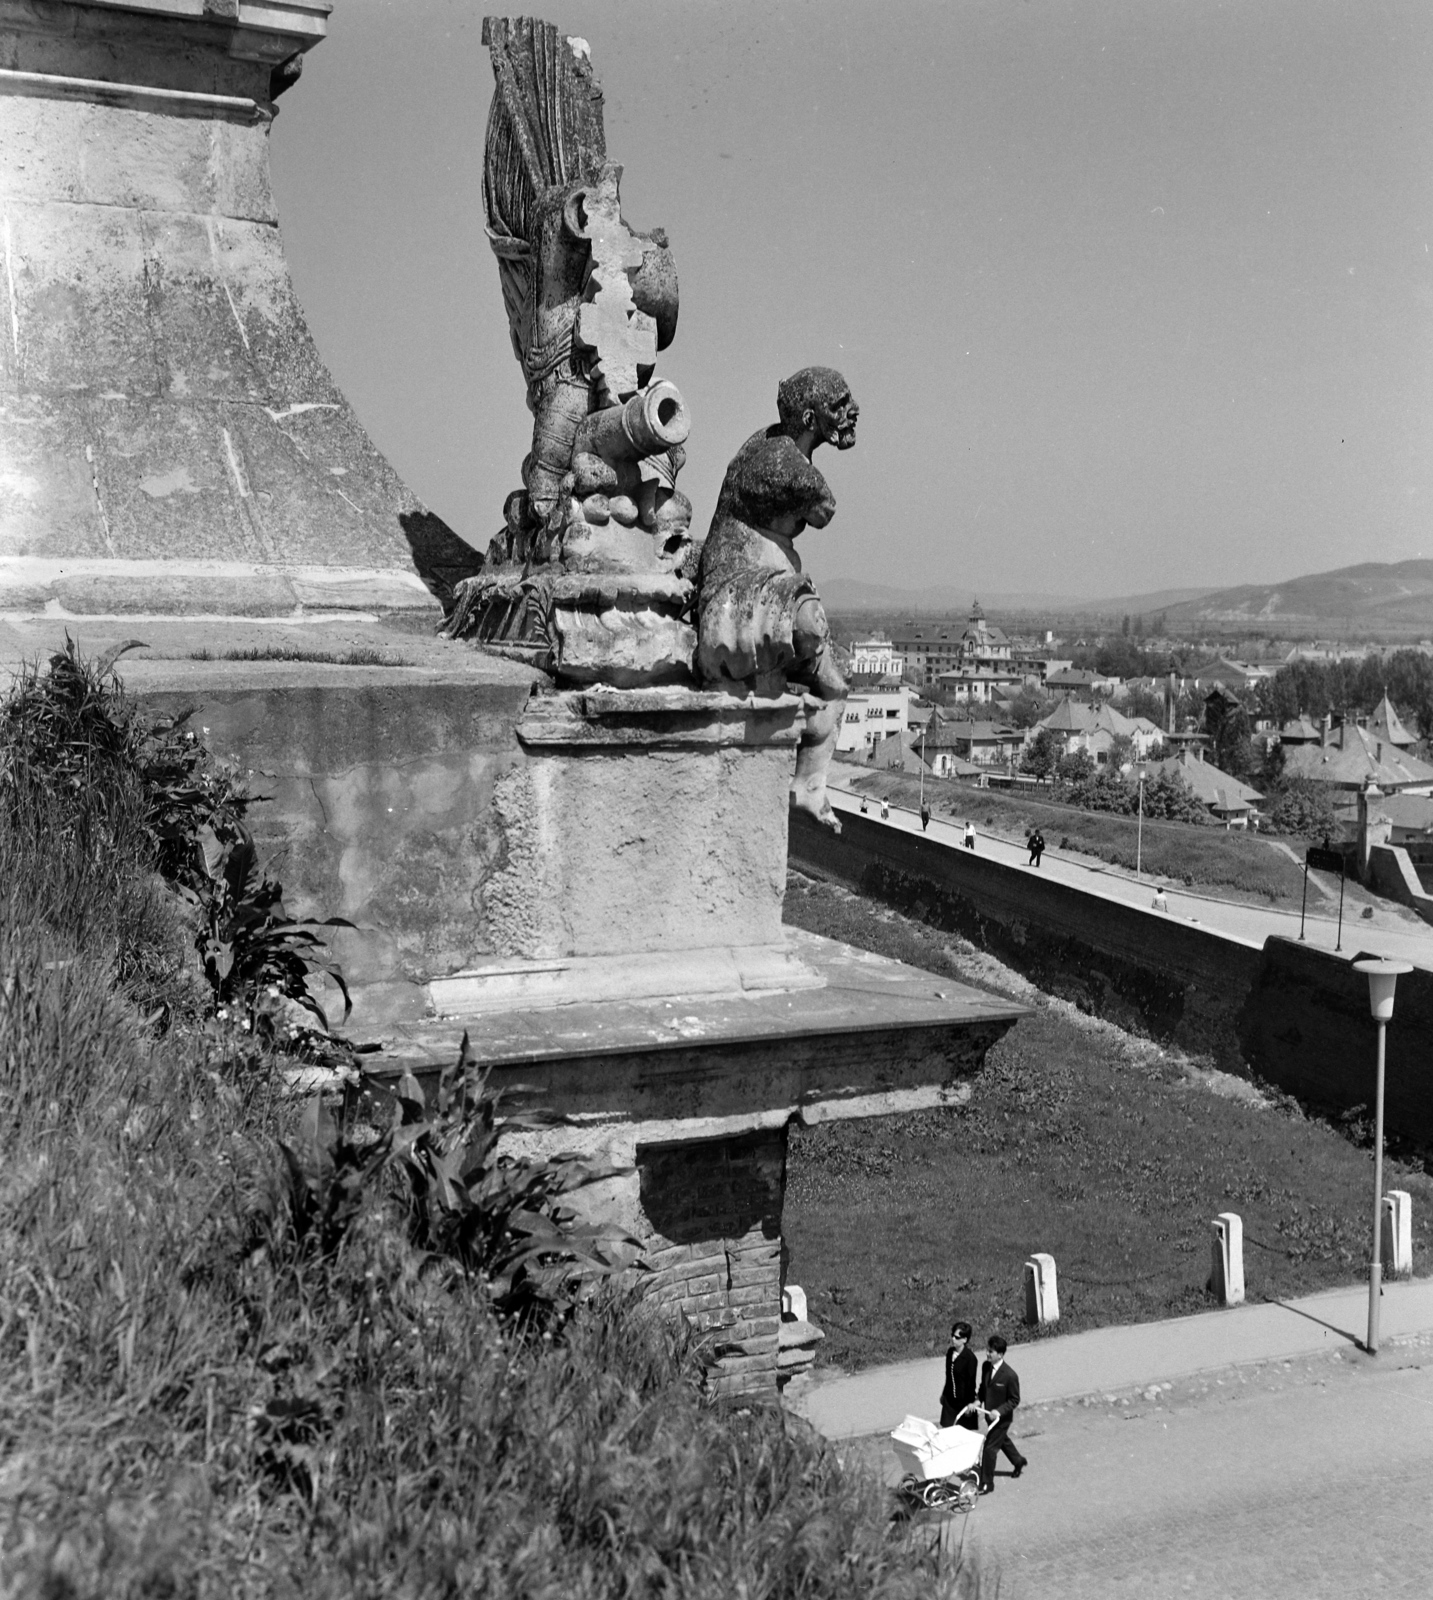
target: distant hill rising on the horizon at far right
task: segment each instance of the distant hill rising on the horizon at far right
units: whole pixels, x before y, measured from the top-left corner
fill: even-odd
[[[1198,632],[1204,626],[1283,635],[1433,637],[1433,560],[1363,562],[1283,584],[1214,589],[1168,610],[1161,610],[1171,634]]]

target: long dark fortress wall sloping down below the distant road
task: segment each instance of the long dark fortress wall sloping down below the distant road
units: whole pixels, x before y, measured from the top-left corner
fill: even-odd
[[[950,850],[873,818],[838,835],[793,813],[795,867],[950,928],[1051,994],[1220,1067],[1254,1072],[1319,1110],[1371,1104],[1374,1026],[1356,952],[1297,941],[1262,950],[1207,928],[1099,899],[977,851]],[[1433,1142],[1433,973],[1398,984],[1388,1030],[1387,1128]]]

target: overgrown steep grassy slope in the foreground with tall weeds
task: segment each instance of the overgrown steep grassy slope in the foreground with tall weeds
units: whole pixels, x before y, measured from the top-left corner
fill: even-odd
[[[707,1403],[632,1298],[537,1336],[417,1248],[371,1144],[315,1160],[264,997],[197,973],[96,685],[78,722],[29,690],[38,738],[0,706],[0,1595],[966,1592],[798,1424]]]

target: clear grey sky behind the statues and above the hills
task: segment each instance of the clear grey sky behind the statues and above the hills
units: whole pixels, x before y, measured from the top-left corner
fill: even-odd
[[[483,234],[481,3],[336,0],[273,182],[310,328],[480,549],[531,418]],[[1427,0],[550,0],[681,282],[705,531],[838,366],[822,578],[1134,595],[1433,557]]]

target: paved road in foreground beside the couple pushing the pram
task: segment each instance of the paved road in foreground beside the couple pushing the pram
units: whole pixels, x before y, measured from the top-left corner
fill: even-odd
[[[1433,1592],[1433,1350],[1233,1373],[1020,1430],[1030,1469],[945,1538],[1000,1600]],[[987,1590],[982,1589],[982,1594]]]

